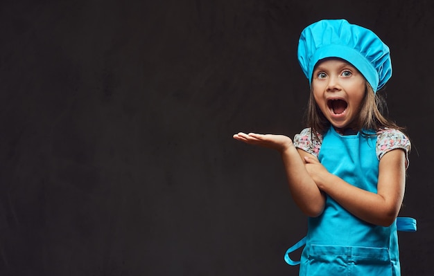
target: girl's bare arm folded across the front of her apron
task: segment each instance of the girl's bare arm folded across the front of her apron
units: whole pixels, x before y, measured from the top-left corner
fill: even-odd
[[[359,219],[390,226],[397,218],[406,185],[406,156],[402,149],[385,154],[379,164],[377,193],[367,192],[330,174],[318,160],[306,157],[306,169],[320,190]]]

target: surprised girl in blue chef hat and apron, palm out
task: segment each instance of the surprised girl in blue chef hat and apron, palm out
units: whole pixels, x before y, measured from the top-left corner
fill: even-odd
[[[307,128],[295,135],[234,135],[276,149],[290,194],[309,216],[300,275],[400,275],[397,230],[410,141],[382,115],[377,91],[390,79],[389,48],[371,30],[321,20],[300,37],[298,60],[311,94]],[[287,253],[288,253],[287,252]]]

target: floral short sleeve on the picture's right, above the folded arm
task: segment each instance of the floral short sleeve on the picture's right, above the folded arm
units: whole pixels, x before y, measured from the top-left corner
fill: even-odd
[[[409,165],[408,153],[411,149],[411,143],[408,137],[397,129],[383,129],[379,131],[376,140],[376,156],[381,160],[384,154],[392,149],[403,149],[406,153],[406,169]]]

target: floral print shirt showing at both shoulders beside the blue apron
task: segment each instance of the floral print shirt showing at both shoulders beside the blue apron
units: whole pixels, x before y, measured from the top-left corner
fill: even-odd
[[[377,133],[376,139],[376,156],[379,160],[392,149],[403,149],[406,153],[406,168],[408,168],[408,153],[411,149],[408,137],[397,129],[381,129]],[[299,149],[309,152],[318,158],[322,144],[322,135],[317,133],[318,138],[311,135],[311,128],[303,129],[300,134],[294,137],[294,145]],[[313,138],[313,139],[312,139]]]

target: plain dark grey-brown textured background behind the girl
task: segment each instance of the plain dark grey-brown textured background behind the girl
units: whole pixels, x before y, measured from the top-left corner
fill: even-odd
[[[297,275],[306,232],[277,153],[309,86],[302,29],[346,18],[392,51],[413,140],[403,275],[431,275],[432,1],[1,1],[0,275]]]

